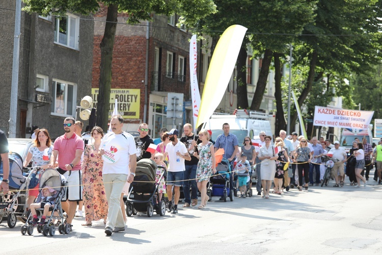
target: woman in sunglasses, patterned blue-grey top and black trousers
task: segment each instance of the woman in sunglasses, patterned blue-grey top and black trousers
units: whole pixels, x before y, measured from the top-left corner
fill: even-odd
[[[308,190],[309,185],[309,162],[312,159],[310,154],[310,148],[308,147],[308,142],[305,138],[300,140],[300,144],[294,152],[294,162],[297,162],[298,169],[298,190],[303,190],[303,176],[305,178],[305,190]],[[304,174],[303,174],[304,172]]]

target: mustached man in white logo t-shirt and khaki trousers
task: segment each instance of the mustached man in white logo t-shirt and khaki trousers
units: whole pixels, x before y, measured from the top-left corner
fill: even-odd
[[[123,118],[120,115],[112,117],[110,125],[112,132],[103,137],[98,152],[103,158],[102,179],[109,207],[106,236],[125,231],[120,197],[126,179],[132,183],[137,168],[135,141],[132,135],[122,131]]]

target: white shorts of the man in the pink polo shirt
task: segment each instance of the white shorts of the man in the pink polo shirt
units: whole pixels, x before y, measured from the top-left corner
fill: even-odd
[[[63,170],[59,169],[61,173]],[[62,197],[62,201],[82,201],[82,171],[72,170],[70,176],[69,171],[65,171],[62,175],[65,176],[68,186],[66,192]]]

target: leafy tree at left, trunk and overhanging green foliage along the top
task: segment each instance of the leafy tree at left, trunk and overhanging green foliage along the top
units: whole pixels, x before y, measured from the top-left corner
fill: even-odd
[[[96,13],[100,7],[100,2],[97,0],[23,0],[23,2],[25,3],[25,11],[37,12],[44,15],[65,15],[67,11],[88,15]],[[100,43],[101,63],[97,125],[106,130],[118,12],[124,12],[129,15],[128,23],[150,20],[152,13],[168,16],[177,13],[182,15],[187,22],[196,23],[205,15],[215,12],[215,5],[212,0],[105,0],[102,4],[107,7],[107,15],[105,31]]]

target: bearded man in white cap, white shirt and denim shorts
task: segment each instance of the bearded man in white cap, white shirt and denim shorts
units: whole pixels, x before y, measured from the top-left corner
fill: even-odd
[[[170,130],[169,139],[171,143],[167,144],[164,158],[169,156],[169,169],[167,171],[167,196],[169,198],[169,212],[178,213],[178,201],[180,197],[179,187],[183,185],[183,172],[185,170],[184,160],[191,160],[188,150],[184,143],[178,140],[179,131],[177,129]],[[174,206],[172,204],[174,186]]]

